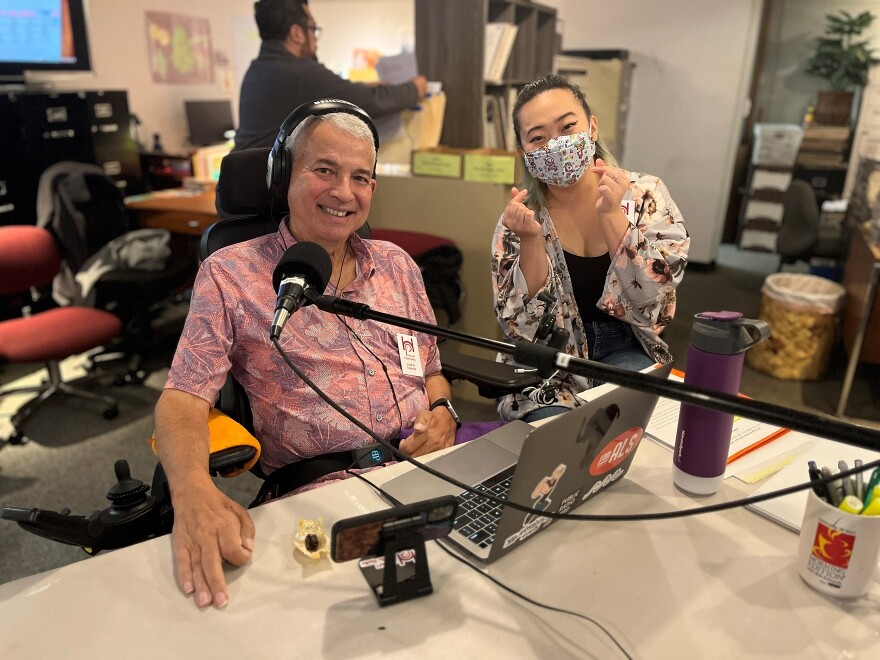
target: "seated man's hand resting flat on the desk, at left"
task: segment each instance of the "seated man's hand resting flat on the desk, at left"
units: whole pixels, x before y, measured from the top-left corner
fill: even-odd
[[[172,543],[177,577],[185,594],[195,594],[199,607],[224,607],[229,590],[223,560],[243,566],[253,554],[254,523],[250,514],[220,492],[210,477],[187,483],[172,493]]]

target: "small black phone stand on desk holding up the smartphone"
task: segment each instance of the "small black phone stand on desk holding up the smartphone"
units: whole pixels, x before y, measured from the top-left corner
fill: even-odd
[[[379,564],[379,556],[359,563],[380,606],[402,603],[434,591],[422,524],[418,519],[386,522],[382,525],[379,546],[385,551],[384,563]]]

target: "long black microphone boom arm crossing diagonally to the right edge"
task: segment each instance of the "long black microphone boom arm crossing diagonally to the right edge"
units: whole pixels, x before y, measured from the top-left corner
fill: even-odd
[[[316,307],[331,314],[341,314],[361,320],[378,321],[408,330],[423,332],[435,337],[454,339],[471,346],[511,355],[519,364],[534,367],[539,371],[549,369],[552,372],[555,369],[560,369],[578,376],[596,378],[622,387],[657,394],[680,401],[681,403],[732,415],[740,415],[759,422],[782,426],[793,431],[817,435],[830,440],[838,440],[862,449],[880,451],[880,431],[843,422],[833,417],[783,408],[782,406],[758,399],[715,392],[689,383],[651,378],[637,371],[627,371],[626,369],[612,367],[601,362],[572,357],[567,353],[557,352],[548,346],[534,344],[525,340],[508,343],[477,337],[458,332],[457,330],[441,328],[424,321],[416,321],[403,316],[377,312],[371,309],[369,305],[363,303],[318,295],[313,291],[307,291],[306,297]]]

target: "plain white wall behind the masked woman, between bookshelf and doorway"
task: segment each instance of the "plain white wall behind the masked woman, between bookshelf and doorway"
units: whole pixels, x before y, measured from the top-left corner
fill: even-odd
[[[690,231],[691,261],[714,261],[747,109],[760,0],[542,2],[559,11],[563,49],[630,52],[636,69],[623,165],[664,180]]]

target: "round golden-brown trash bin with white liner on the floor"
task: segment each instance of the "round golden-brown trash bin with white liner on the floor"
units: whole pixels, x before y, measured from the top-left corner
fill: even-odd
[[[845,293],[816,275],[768,275],[758,318],[770,325],[770,339],[753,346],[746,363],[783,380],[818,379],[828,366]]]

